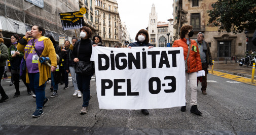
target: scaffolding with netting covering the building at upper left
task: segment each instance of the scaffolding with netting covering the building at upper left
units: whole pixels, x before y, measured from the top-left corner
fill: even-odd
[[[44,0],[44,8],[25,0],[0,0],[0,29],[5,38],[17,33],[24,36],[33,25],[42,26],[47,34],[69,39],[75,30],[63,30],[59,13],[79,11],[79,0]],[[24,29],[25,28],[25,29]]]

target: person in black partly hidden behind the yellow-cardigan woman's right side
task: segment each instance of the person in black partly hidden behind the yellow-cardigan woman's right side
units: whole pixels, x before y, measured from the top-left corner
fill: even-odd
[[[55,39],[52,37],[52,35],[46,35],[46,37],[49,37],[52,41],[52,43],[54,44],[54,49],[55,49],[55,53],[58,56],[61,56],[61,50],[58,44],[56,44]],[[61,60],[61,58],[60,58]],[[60,72],[59,72],[59,63],[57,63],[57,68],[55,72],[51,73],[51,91],[54,91],[53,94],[51,95],[51,98],[57,97],[58,96],[58,83],[60,82],[59,80],[60,78]]]

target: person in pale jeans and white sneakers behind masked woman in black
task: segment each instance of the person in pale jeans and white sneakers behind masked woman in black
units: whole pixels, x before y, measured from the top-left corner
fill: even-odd
[[[71,77],[72,77],[72,83],[75,88],[75,93],[73,94],[73,96],[78,95],[78,98],[81,98],[82,94],[78,89],[77,79],[76,79],[76,72],[75,72],[76,64],[74,62],[75,57],[72,56],[72,52],[73,52],[72,50],[74,48],[75,43],[78,41],[78,38],[74,36],[74,37],[72,37],[71,41],[72,41],[72,44],[70,45],[69,49],[67,50],[67,55],[66,55],[66,59],[65,59],[65,67],[67,67],[66,72],[70,72]]]

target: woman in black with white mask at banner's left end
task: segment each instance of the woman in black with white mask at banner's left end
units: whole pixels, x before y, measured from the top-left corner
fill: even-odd
[[[92,30],[89,27],[84,26],[80,28],[80,32],[81,40],[76,42],[72,52],[72,56],[75,58],[74,62],[78,63],[79,61],[82,61],[91,63],[93,41],[90,40],[90,37],[92,35]],[[88,111],[91,77],[91,74],[84,75],[77,73],[78,88],[83,93],[83,108],[80,111],[81,114],[86,114]]]

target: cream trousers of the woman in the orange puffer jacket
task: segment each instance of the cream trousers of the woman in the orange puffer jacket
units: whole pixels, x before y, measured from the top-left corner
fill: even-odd
[[[190,105],[197,105],[197,72],[185,73],[186,74],[186,91],[189,91],[188,80],[190,83]],[[187,103],[187,100],[186,100]]]

